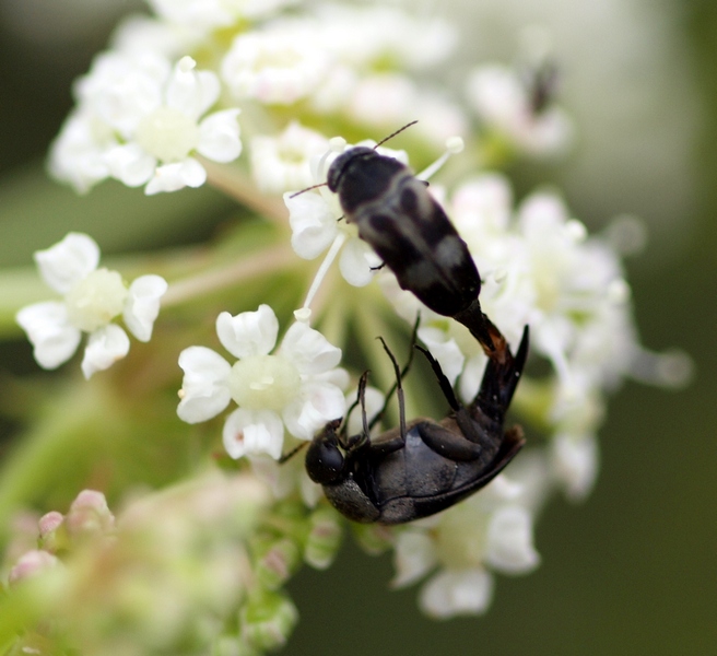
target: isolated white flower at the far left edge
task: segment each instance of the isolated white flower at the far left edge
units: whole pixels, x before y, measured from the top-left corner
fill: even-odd
[[[117,271],[98,269],[99,248],[92,237],[69,233],[47,250],[38,250],[35,261],[45,282],[63,295],[23,307],[16,316],[34,347],[43,368],[57,368],[89,333],[82,373],[90,378],[127,355],[129,338],[113,324],[120,314],[130,332],[149,341],[160,312],[160,300],[167,290],[160,276],[142,276],[127,288]]]

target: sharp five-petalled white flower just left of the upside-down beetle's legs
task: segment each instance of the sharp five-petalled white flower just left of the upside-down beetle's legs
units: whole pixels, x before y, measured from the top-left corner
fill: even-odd
[[[337,370],[341,350],[302,323],[293,324],[279,349],[279,321],[271,307],[236,316],[222,313],[216,333],[224,348],[238,358],[234,365],[204,347],[179,354],[185,376],[177,414],[188,423],[207,421],[233,399],[239,408],[224,423],[226,452],[233,458],[269,454],[281,456],[284,426],[299,440],[345,411],[340,385],[345,372]],[[339,383],[339,385],[337,385]]]

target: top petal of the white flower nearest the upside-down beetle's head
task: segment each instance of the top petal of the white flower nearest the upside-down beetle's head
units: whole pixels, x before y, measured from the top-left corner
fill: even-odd
[[[255,312],[232,316],[223,312],[216,317],[216,335],[222,345],[235,358],[267,355],[277,343],[279,319],[266,304]]]

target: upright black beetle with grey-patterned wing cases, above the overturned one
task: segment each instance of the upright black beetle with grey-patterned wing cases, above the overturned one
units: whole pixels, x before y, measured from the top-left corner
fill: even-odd
[[[481,278],[468,245],[444,209],[411,169],[376,148],[357,145],[329,166],[327,185],[339,196],[348,223],[355,223],[396,274],[401,289],[413,292],[433,312],[454,317],[471,331],[483,350],[494,351],[478,296]]]

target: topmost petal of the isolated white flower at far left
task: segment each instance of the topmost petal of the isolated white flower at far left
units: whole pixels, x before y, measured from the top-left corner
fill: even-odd
[[[99,246],[83,233],[68,233],[61,241],[37,250],[35,262],[45,282],[60,294],[67,294],[72,285],[94,271],[99,263]]]

